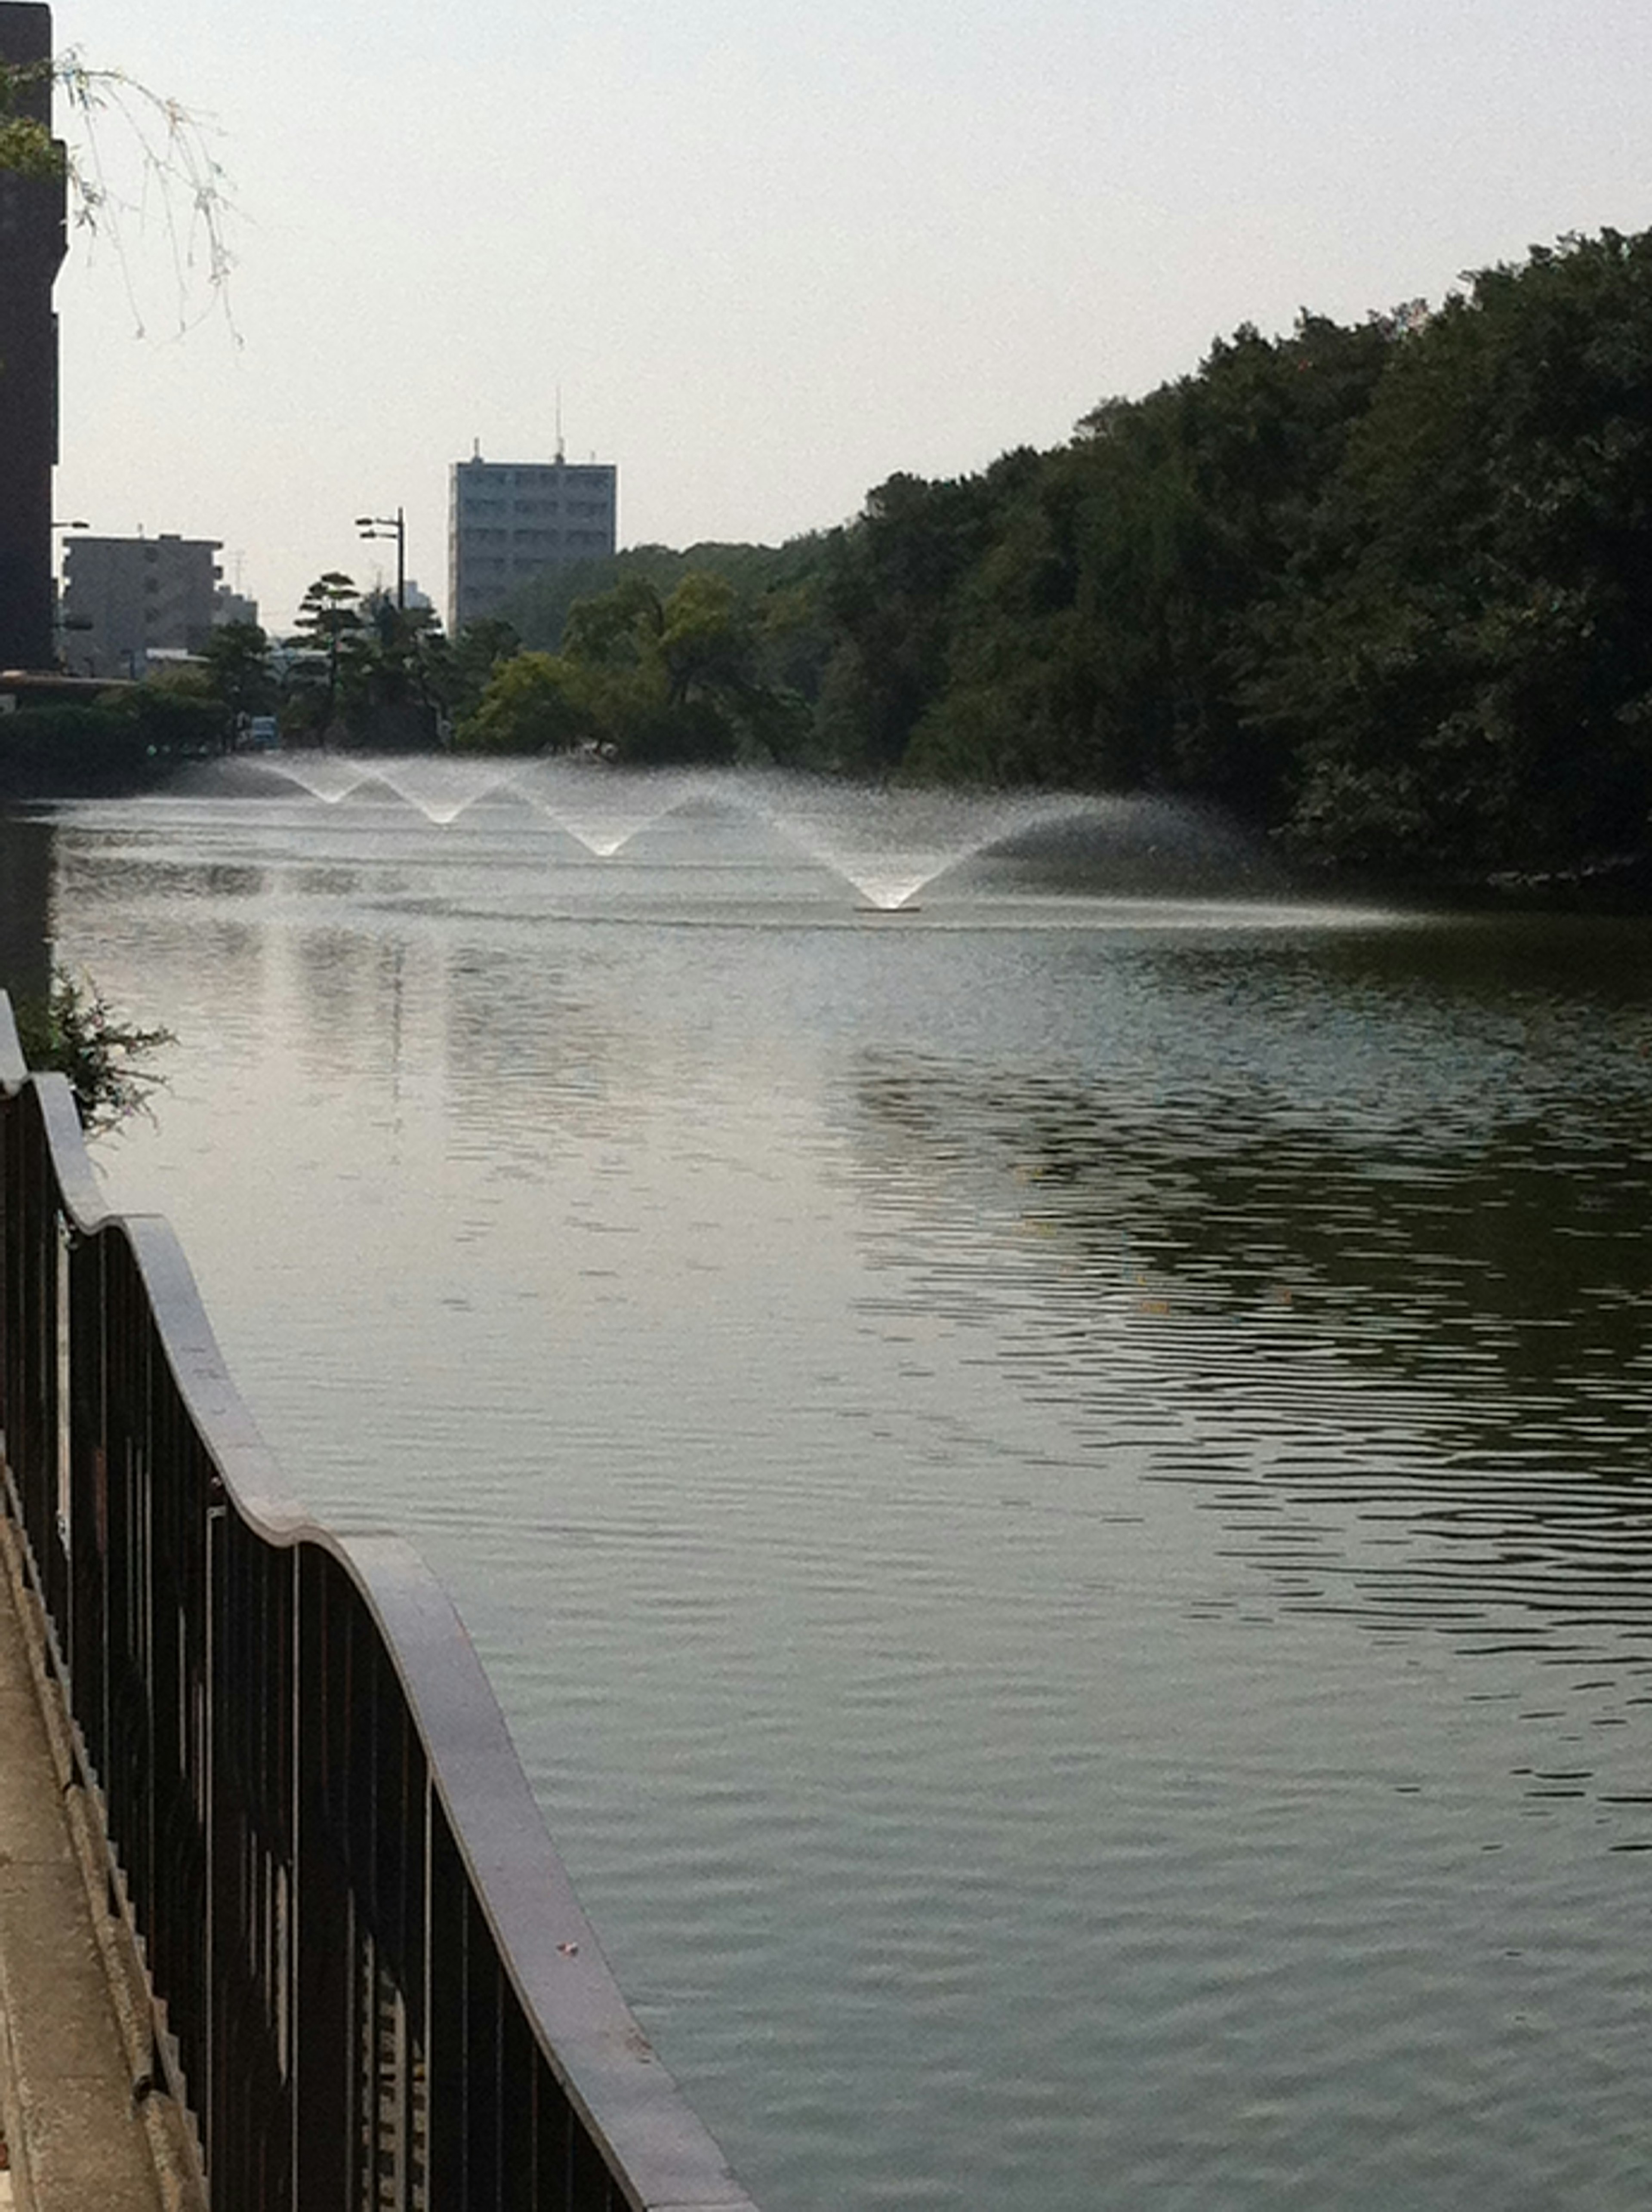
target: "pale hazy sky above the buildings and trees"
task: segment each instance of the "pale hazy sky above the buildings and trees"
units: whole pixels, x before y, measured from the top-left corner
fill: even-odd
[[[221,538],[272,628],[394,566],[352,518],[398,504],[445,608],[449,462],[548,458],[557,385],[621,544],[781,540],[1241,321],[1652,223],[1648,0],[57,0],[55,35],[215,124],[241,341],[177,338],[155,204],[144,341],[82,232],[55,511]]]

